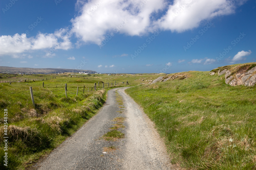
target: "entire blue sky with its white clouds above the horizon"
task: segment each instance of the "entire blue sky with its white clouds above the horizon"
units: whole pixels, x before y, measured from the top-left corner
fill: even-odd
[[[101,73],[256,62],[256,1],[2,0],[0,66]]]

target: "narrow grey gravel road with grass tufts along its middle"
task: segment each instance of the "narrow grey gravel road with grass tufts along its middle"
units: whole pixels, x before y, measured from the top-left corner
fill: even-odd
[[[108,91],[99,113],[36,165],[38,169],[175,169],[164,142],[124,88]],[[124,117],[125,137],[106,141],[116,117]],[[120,123],[120,122],[119,122]]]

